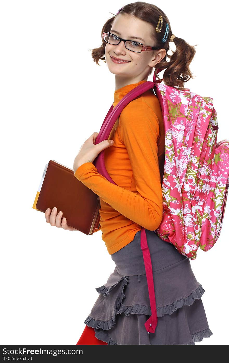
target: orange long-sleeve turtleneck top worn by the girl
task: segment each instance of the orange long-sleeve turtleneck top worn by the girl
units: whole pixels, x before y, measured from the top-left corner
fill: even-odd
[[[144,82],[115,90],[113,106]],[[128,103],[109,139],[114,144],[105,149],[104,161],[117,185],[90,162],[79,166],[75,177],[100,197],[98,230],[112,254],[130,243],[141,226],[154,231],[162,220],[165,131],[161,106],[152,89]]]

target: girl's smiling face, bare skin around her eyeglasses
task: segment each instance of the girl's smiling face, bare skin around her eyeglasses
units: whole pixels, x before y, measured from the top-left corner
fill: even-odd
[[[118,33],[117,33],[118,32]],[[132,15],[119,14],[111,26],[110,33],[120,38],[140,42],[144,45],[154,46],[150,37],[152,25]],[[142,39],[139,39],[141,37]],[[116,83],[137,83],[148,78],[151,67],[160,62],[166,55],[165,49],[147,50],[136,53],[128,50],[124,42],[118,45],[107,43],[105,46],[105,60],[109,71],[115,74]],[[114,63],[111,57],[129,61],[128,63]]]

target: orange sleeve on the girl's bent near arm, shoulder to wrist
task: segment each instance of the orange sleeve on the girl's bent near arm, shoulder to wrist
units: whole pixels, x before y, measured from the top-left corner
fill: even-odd
[[[137,193],[110,183],[93,163],[82,164],[75,177],[116,211],[154,231],[161,223],[163,211],[157,156],[158,119],[147,103],[136,99],[123,109],[119,122]]]

